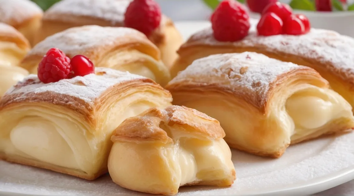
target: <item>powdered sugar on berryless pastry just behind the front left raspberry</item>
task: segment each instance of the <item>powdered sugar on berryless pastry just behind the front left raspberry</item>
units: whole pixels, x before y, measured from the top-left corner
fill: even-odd
[[[118,39],[132,37],[146,39],[141,32],[126,27],[101,27],[97,25],[73,27],[47,37],[35,45],[27,56],[44,55],[50,48],[59,48],[72,57],[77,54],[89,53],[92,49],[98,47],[115,45]]]

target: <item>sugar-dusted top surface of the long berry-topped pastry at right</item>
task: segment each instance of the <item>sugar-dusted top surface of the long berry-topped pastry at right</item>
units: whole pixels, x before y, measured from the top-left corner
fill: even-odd
[[[329,72],[354,85],[354,38],[335,31],[311,29],[304,35],[257,36],[255,21],[249,35],[238,42],[219,42],[211,28],[199,31],[180,50],[196,45],[255,47],[274,53],[296,55],[310,63],[320,62]],[[314,61],[314,62],[313,62]]]

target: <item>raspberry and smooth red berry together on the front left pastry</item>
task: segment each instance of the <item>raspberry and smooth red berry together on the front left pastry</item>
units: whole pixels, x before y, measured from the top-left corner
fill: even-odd
[[[95,73],[93,63],[84,55],[69,59],[63,51],[51,48],[38,65],[38,78],[44,83]]]

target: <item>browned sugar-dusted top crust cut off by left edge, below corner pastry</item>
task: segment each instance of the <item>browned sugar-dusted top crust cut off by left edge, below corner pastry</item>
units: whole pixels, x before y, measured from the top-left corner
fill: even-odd
[[[0,11],[0,15],[1,15],[1,11]],[[1,22],[0,22],[0,41],[13,42],[21,49],[26,49],[26,50],[30,49],[28,40],[20,32],[18,32],[14,27]]]

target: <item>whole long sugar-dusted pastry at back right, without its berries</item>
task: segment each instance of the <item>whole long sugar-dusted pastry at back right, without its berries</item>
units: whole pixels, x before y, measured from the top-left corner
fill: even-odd
[[[249,35],[238,42],[216,41],[211,28],[195,33],[179,48],[171,76],[201,57],[251,51],[314,68],[354,106],[354,38],[323,29],[311,29],[300,36],[257,36],[256,24],[256,20],[251,20]]]

